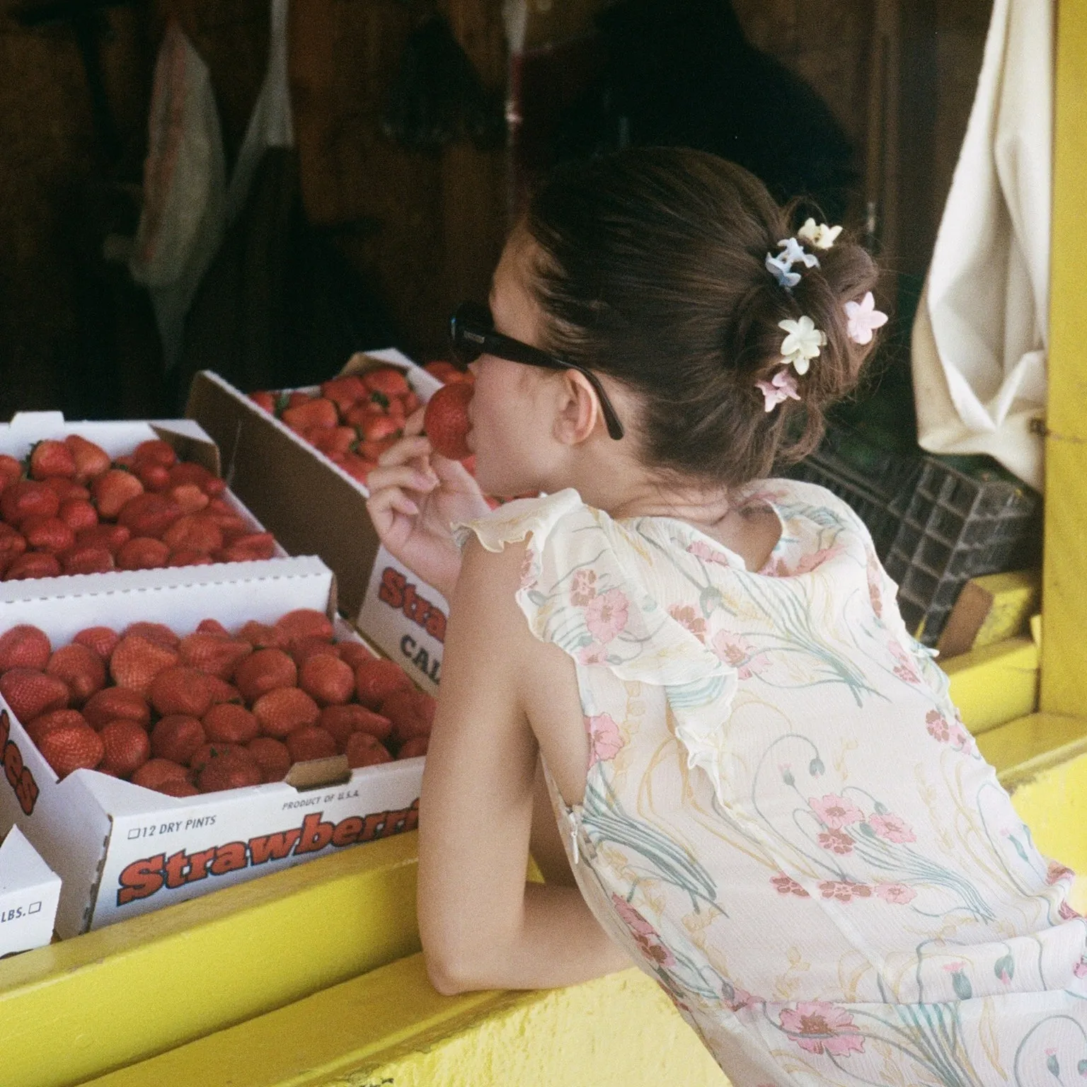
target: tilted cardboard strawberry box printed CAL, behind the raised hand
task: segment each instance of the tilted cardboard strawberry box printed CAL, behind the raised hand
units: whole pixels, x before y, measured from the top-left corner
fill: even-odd
[[[441,387],[396,350],[371,352],[351,372],[377,365],[401,368],[423,403]],[[449,605],[380,546],[366,487],[217,374],[197,374],[186,414],[217,442],[224,477],[276,539],[291,554],[321,555],[336,573],[345,614],[436,690]]]

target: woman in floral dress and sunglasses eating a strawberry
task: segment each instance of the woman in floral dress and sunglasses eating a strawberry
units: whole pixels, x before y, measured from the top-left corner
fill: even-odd
[[[739,167],[637,150],[549,180],[492,324],[459,311],[478,486],[415,436],[370,501],[451,597],[418,867],[442,992],[630,957],[736,1087],[1087,1074],[1072,873],[1034,848],[864,525],[763,478],[855,383],[874,282]],[[546,497],[488,514],[480,488]],[[538,762],[576,888],[524,878]]]

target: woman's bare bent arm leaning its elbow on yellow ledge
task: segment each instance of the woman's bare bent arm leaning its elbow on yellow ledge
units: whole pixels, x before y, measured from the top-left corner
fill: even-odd
[[[441,992],[572,985],[629,965],[575,887],[527,885],[538,746],[518,677],[540,649],[513,599],[524,547],[473,541],[423,775],[418,920]]]

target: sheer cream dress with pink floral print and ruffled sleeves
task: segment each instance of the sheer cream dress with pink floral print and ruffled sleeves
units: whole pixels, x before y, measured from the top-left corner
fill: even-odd
[[[857,515],[753,485],[763,570],[574,490],[459,529],[528,538],[517,602],[574,662],[578,884],[735,1087],[1087,1083],[1087,923],[905,630]]]

